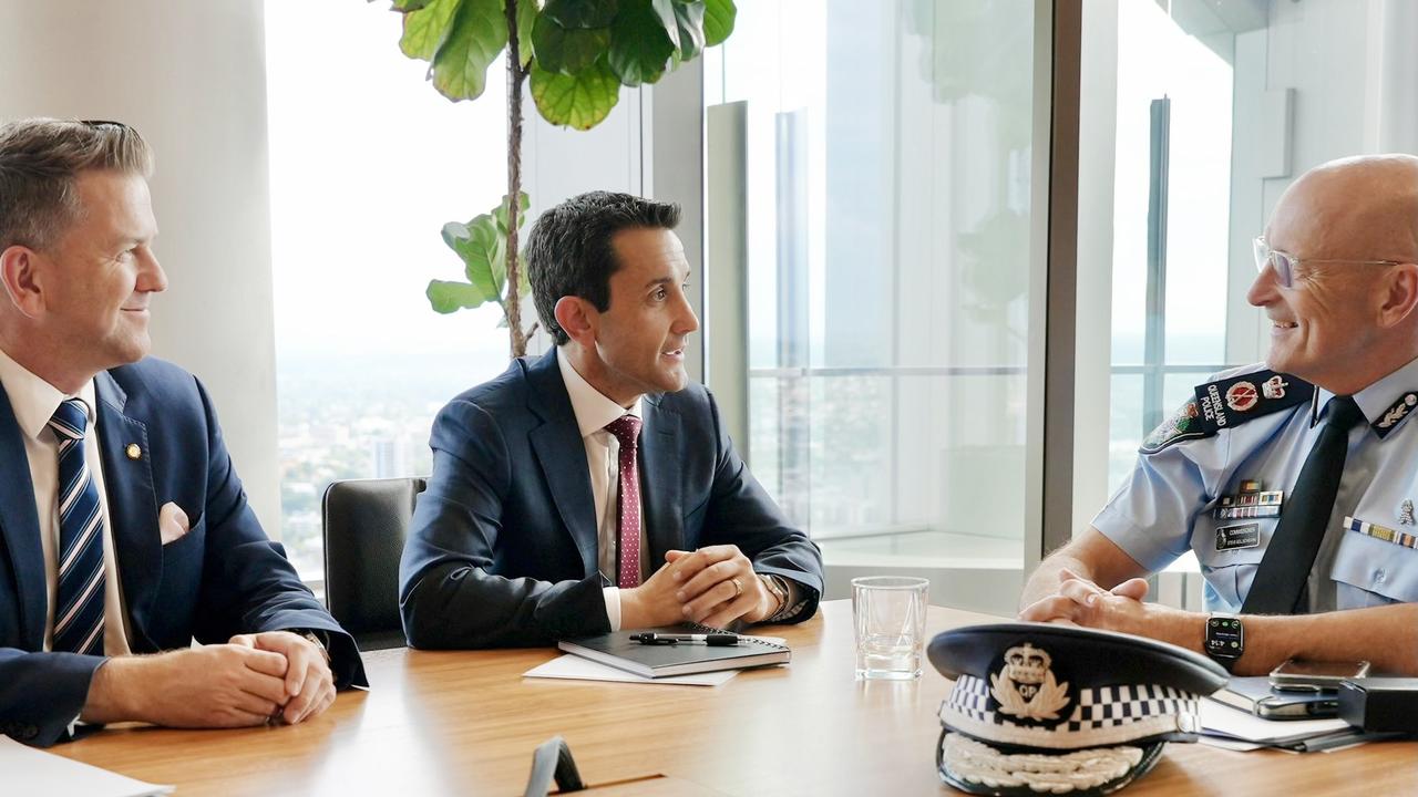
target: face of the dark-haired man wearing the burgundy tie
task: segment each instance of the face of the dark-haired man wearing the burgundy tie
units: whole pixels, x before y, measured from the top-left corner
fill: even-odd
[[[674,393],[689,383],[685,342],[699,319],[685,294],[689,262],[671,230],[632,227],[611,238],[618,268],[610,306],[597,312],[597,387],[623,406],[645,393]]]

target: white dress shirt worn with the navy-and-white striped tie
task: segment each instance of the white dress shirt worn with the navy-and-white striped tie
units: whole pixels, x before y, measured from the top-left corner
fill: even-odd
[[[108,494],[104,489],[94,380],[84,383],[78,393],[65,396],[0,350],[0,384],[4,386],[10,408],[14,410],[14,420],[24,437],[30,481],[34,484],[34,508],[40,518],[40,547],[44,550],[44,581],[48,587],[44,650],[51,650],[54,644],[54,604],[60,589],[60,441],[48,424],[62,401],[79,398],[86,407],[89,421],[84,434],[84,461],[88,464],[94,486],[98,488],[99,512],[104,515],[104,652],[126,655],[130,652],[128,614],[123,610],[123,590],[118,580],[118,559],[113,556],[113,525],[109,522]],[[155,518],[153,522],[156,520]]]

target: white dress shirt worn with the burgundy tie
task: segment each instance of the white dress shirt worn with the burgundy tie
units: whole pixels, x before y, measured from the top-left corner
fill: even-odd
[[[563,347],[556,350],[556,364],[562,369],[562,381],[566,383],[566,394],[571,398],[571,411],[576,413],[576,425],[581,431],[581,442],[586,444],[586,465],[591,472],[591,498],[596,501],[596,564],[601,576],[615,583],[615,569],[620,562],[620,518],[615,512],[620,498],[620,440],[605,431],[605,424],[630,414],[641,418],[644,398],[627,410],[611,401],[601,391],[591,387],[571,362],[566,359]],[[641,478],[644,488],[645,479]],[[642,491],[644,492],[644,491]],[[649,573],[658,570],[658,564],[649,560],[649,546],[645,542],[644,513],[640,529],[640,577],[644,581]],[[620,589],[605,587],[605,617],[611,623],[611,631],[620,631]]]

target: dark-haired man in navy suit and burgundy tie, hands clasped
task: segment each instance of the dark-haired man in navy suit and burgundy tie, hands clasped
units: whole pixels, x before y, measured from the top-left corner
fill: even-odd
[[[400,566],[421,648],[545,645],[695,621],[797,623],[822,557],[685,373],[699,328],[679,208],[593,191],[542,214],[527,275],[556,347],[434,421]]]

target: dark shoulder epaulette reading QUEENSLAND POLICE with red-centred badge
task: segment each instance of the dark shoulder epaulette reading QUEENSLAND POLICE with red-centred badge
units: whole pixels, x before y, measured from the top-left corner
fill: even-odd
[[[1143,440],[1139,451],[1156,454],[1183,440],[1212,437],[1224,428],[1303,404],[1314,386],[1273,370],[1259,370],[1198,384],[1195,396]]]

